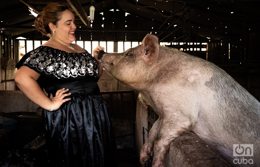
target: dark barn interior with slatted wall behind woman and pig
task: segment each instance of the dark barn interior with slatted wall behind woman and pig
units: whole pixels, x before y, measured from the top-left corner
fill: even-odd
[[[23,166],[47,163],[42,162],[46,158],[44,145],[28,146],[37,136],[43,136],[42,121],[35,113],[38,106],[18,89],[14,75],[15,64],[21,57],[48,40],[35,29],[34,20],[51,2],[69,6],[77,25],[75,43],[90,53],[98,45],[105,47],[106,52],[124,52],[140,45],[145,35],[151,33],[158,36],[160,45],[213,62],[260,99],[259,0],[3,0],[0,166],[14,166],[11,161],[15,159],[16,164]],[[89,19],[90,6],[95,7],[94,20]],[[98,84],[110,110],[121,166],[139,166],[136,138],[142,144],[158,116],[146,108],[146,123],[138,127],[138,91],[121,85],[106,72]],[[8,129],[12,129],[10,133]],[[22,152],[24,145],[29,147],[26,153]],[[44,158],[33,157],[29,162],[23,155],[27,160],[37,155]],[[32,162],[35,159],[39,162]]]

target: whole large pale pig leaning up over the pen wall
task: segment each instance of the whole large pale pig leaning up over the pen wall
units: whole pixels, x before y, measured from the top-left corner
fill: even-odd
[[[153,156],[152,166],[164,166],[171,141],[192,131],[231,165],[259,166],[260,103],[221,68],[160,46],[151,34],[123,53],[100,51],[98,59],[115,79],[138,89],[160,116],[141,149],[141,163]],[[239,156],[250,149],[253,156]]]

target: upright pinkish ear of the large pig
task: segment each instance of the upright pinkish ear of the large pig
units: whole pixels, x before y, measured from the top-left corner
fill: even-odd
[[[147,34],[142,41],[142,58],[147,65],[150,65],[158,58],[159,44],[158,38]]]

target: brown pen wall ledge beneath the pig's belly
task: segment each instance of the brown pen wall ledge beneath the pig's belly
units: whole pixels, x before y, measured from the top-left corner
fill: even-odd
[[[189,132],[171,142],[166,166],[230,166],[196,134]]]

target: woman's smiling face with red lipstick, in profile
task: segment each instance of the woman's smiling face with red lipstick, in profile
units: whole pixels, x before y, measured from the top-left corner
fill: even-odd
[[[65,10],[62,13],[62,18],[57,22],[54,39],[55,37],[64,43],[71,44],[75,41],[74,31],[76,29],[76,25],[74,24],[74,15],[71,11]]]

